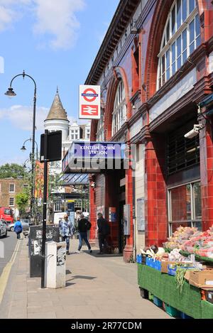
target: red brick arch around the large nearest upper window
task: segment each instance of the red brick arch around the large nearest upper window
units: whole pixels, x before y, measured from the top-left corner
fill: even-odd
[[[148,46],[145,64],[145,84],[146,84],[146,100],[150,99],[156,92],[157,75],[158,75],[158,53],[162,41],[165,23],[168,13],[173,5],[174,0],[159,0],[153,14],[151,30],[148,37]],[[201,14],[204,6],[203,0],[196,0],[197,9]],[[201,8],[202,7],[202,8]],[[202,40],[203,41],[203,40]]]

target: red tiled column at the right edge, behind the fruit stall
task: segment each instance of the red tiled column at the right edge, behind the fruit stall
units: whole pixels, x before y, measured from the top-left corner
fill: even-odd
[[[213,225],[213,145],[212,125],[207,125],[200,133],[200,179],[202,198],[202,229]]]

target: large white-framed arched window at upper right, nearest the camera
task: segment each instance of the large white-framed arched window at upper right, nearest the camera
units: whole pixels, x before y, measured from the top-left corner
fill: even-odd
[[[175,0],[165,24],[158,55],[158,89],[179,70],[200,43],[196,0]]]

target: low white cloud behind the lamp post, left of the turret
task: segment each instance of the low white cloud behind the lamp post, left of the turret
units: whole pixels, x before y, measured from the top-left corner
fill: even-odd
[[[35,114],[35,124],[38,131],[43,131],[43,121],[48,115],[48,108],[37,107]],[[11,121],[11,124],[17,129],[31,131],[33,129],[33,107],[23,107],[22,105],[13,105],[9,109],[0,109],[0,119]]]

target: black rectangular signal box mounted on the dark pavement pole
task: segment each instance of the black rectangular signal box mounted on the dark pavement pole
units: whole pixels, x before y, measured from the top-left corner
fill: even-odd
[[[40,163],[44,162],[44,138],[45,134],[40,136]],[[62,131],[48,133],[48,162],[62,159]]]

